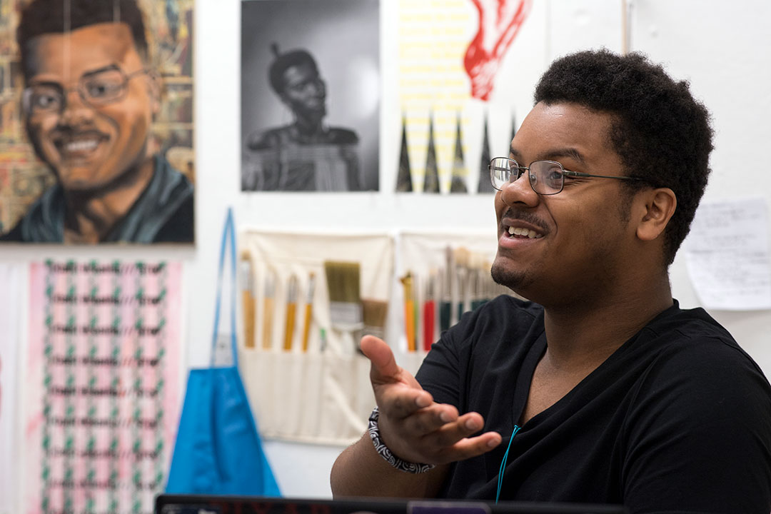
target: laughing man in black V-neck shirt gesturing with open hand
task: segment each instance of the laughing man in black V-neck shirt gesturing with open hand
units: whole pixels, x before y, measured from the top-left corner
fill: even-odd
[[[642,55],[554,62],[490,166],[493,278],[532,303],[464,315],[416,378],[362,339],[379,412],[335,496],[771,511],[769,383],[668,281],[711,150],[687,83]]]

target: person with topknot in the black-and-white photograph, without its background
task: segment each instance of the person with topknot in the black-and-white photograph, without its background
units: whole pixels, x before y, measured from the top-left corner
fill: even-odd
[[[326,85],[305,50],[280,53],[273,45],[271,88],[294,122],[247,139],[244,190],[362,190],[359,137],[352,130],[328,127]]]

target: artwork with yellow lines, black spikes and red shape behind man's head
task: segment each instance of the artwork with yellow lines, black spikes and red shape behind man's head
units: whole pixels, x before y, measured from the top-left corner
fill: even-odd
[[[383,18],[399,27],[393,101],[401,116],[385,123],[399,160],[389,188],[494,192],[490,157],[508,155],[548,62],[548,9],[532,0],[384,4]]]

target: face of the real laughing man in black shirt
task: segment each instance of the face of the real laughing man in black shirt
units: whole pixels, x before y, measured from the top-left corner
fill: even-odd
[[[538,103],[511,143],[520,166],[554,160],[565,170],[621,176],[611,149],[612,116],[572,103]],[[565,178],[564,190],[540,196],[525,172],[495,197],[498,252],[493,278],[544,305],[575,301],[618,281],[635,230],[622,219],[621,181]],[[527,230],[510,234],[510,227]]]

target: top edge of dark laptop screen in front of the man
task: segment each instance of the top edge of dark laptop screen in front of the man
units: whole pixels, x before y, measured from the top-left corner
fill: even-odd
[[[623,506],[471,500],[157,496],[154,514],[629,514]]]

